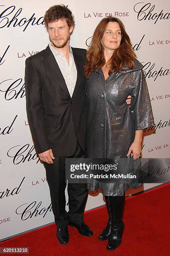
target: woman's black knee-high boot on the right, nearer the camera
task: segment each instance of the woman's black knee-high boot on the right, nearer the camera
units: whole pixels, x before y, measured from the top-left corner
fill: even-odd
[[[122,242],[122,234],[125,228],[125,225],[122,221],[125,195],[121,197],[108,197],[108,199],[112,214],[112,224],[111,233],[107,244],[107,250],[113,250],[117,248]]]

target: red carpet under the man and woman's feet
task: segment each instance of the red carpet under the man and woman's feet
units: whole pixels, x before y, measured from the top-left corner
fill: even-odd
[[[170,250],[170,184],[128,197],[125,204],[125,231],[122,244],[107,251],[107,241],[97,236],[107,223],[106,207],[85,214],[85,222],[93,230],[92,237],[83,237],[69,226],[70,242],[61,246],[55,237],[54,224],[0,243],[0,247],[29,247],[29,256],[155,256],[168,255]],[[14,255],[14,254],[10,254]],[[16,254],[15,254],[16,255]]]

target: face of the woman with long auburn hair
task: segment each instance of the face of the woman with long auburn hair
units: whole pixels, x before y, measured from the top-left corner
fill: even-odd
[[[122,36],[119,23],[109,22],[102,36],[102,46],[106,53],[113,53],[120,46]]]

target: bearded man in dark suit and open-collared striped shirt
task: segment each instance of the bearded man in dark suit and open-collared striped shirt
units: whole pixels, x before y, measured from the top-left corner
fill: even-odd
[[[69,212],[65,210],[65,158],[85,158],[86,50],[69,45],[75,22],[65,5],[46,11],[45,26],[50,44],[25,62],[26,107],[35,148],[46,169],[57,238],[66,244],[68,224],[83,236],[93,234],[83,222],[86,184],[68,184]]]

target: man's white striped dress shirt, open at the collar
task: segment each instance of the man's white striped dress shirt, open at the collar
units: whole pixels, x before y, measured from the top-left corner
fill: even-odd
[[[58,64],[58,67],[60,68],[60,71],[62,73],[62,76],[65,79],[65,83],[67,85],[67,89],[70,93],[70,97],[72,97],[72,94],[74,92],[75,83],[77,80],[77,68],[75,66],[74,57],[72,54],[72,49],[70,47],[70,56],[69,56],[69,65],[67,62],[67,59],[65,58],[64,54],[58,52],[54,47],[49,43],[50,50],[52,51],[52,54],[55,57],[55,60]]]

